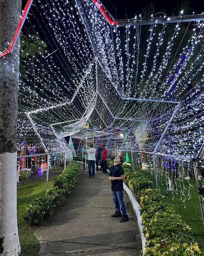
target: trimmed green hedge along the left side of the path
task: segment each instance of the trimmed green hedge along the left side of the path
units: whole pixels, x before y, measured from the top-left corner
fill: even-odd
[[[71,190],[76,186],[79,177],[80,164],[72,162],[56,177],[53,188],[49,189],[46,197],[34,198],[31,205],[26,207],[25,221],[31,226],[38,226],[45,221],[54,210],[65,201]]]

